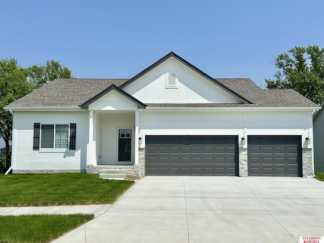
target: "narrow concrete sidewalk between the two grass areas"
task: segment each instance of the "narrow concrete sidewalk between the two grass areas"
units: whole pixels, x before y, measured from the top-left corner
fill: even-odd
[[[49,207],[3,207],[0,215],[23,214],[94,214],[95,217],[103,214],[111,207],[107,205],[79,205],[79,206],[49,206]]]

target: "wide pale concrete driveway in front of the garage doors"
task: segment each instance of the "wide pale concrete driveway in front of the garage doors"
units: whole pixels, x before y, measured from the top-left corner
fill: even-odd
[[[299,242],[324,236],[324,182],[145,177],[105,213],[53,242]]]

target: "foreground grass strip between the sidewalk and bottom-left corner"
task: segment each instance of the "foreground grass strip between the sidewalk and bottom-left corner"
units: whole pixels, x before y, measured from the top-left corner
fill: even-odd
[[[0,243],[50,242],[93,214],[0,216]]]

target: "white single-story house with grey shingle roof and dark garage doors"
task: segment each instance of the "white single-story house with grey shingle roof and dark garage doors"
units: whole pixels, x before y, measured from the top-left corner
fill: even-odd
[[[314,174],[320,106],[249,78],[215,79],[173,52],[131,79],[56,79],[6,109],[13,173]]]

